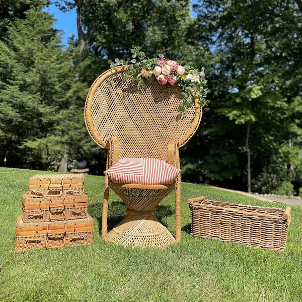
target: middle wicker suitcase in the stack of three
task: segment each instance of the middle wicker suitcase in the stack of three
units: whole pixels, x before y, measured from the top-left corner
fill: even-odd
[[[22,195],[22,219],[24,222],[86,218],[88,196],[63,195],[60,197],[31,197]]]

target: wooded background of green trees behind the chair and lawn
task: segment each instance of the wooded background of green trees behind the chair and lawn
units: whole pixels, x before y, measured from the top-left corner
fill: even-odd
[[[77,12],[68,45],[47,6]],[[84,124],[108,59],[205,66],[209,104],[181,149],[182,180],[253,192],[302,187],[300,0],[0,0],[0,166],[103,175],[105,150]],[[6,158],[6,162],[5,162]]]

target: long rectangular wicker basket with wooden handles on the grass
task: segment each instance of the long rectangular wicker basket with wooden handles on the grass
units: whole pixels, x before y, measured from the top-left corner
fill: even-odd
[[[191,235],[241,243],[282,252],[285,248],[290,207],[257,207],[208,200],[187,200],[191,210]]]

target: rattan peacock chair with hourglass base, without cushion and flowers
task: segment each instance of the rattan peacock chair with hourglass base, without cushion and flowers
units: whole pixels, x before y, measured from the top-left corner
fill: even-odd
[[[149,81],[138,89],[123,81],[125,68],[111,68],[92,84],[85,103],[85,122],[92,139],[108,149],[109,169],[119,159],[154,158],[180,168],[179,147],[197,130],[202,108],[195,104],[181,117],[179,87]],[[107,233],[109,189],[127,206],[125,218]],[[175,236],[156,217],[156,207],[170,192],[175,193]],[[102,238],[124,247],[165,247],[181,237],[181,176],[172,184],[114,183],[105,175]]]

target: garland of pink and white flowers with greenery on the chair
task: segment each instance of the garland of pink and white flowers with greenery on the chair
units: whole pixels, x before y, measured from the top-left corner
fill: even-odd
[[[182,87],[181,98],[184,101],[179,105],[179,111],[183,116],[194,104],[191,91],[202,107],[207,105],[208,89],[204,67],[199,71],[190,66],[182,66],[177,61],[166,59],[164,55],[149,59],[140,49],[140,46],[133,45],[131,60],[115,59],[115,62],[108,60],[110,67],[124,65],[127,68],[124,81],[132,78],[134,83],[141,88],[145,87],[145,82],[151,79],[156,79],[161,85]]]

